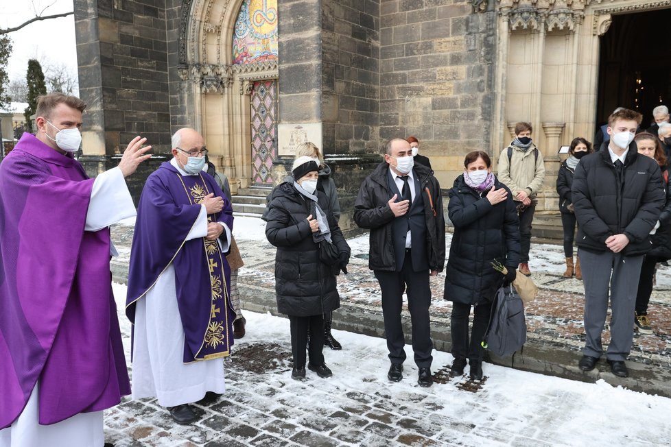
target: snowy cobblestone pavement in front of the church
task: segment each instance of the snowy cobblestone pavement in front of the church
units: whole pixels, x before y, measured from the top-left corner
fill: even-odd
[[[250,221],[245,224],[250,224]],[[113,274],[115,280],[123,282],[128,273],[132,227],[115,226],[113,240],[120,254],[113,261]],[[244,290],[243,306],[255,309],[261,295],[273,300],[274,247],[262,237],[248,237],[248,232],[243,232],[243,237],[237,237],[237,241],[246,262],[239,280]],[[336,326],[338,318],[345,319],[348,312],[368,316],[380,313],[379,286],[367,266],[367,238],[352,239],[351,245],[353,258],[349,275],[338,278],[342,308],[336,311]],[[577,358],[584,336],[582,282],[561,278],[561,262],[561,247],[532,245],[532,278],[541,290],[537,300],[526,309],[528,344],[559,347],[574,352]],[[635,335],[632,361],[629,362],[634,367],[639,364],[655,370],[671,369],[671,280],[668,273],[669,267],[661,267],[657,273],[657,287],[650,302],[655,334]],[[432,278],[432,328],[449,332],[450,306],[449,302],[442,300],[444,280],[444,275]],[[118,287],[115,286],[115,291]],[[123,303],[123,297],[117,298],[117,302]],[[124,345],[128,351],[130,325],[126,324],[123,305],[119,307]],[[272,310],[272,304],[268,310]],[[370,321],[366,320],[364,324],[370,324]],[[589,412],[580,416],[575,414],[585,396],[595,398],[593,389],[579,387],[610,387],[599,378],[618,384],[617,380],[611,380],[614,376],[608,377],[608,374],[598,371],[590,378],[597,382],[596,385],[580,383],[574,385],[577,389],[560,391],[553,385],[554,382],[543,385],[545,380],[560,379],[487,364],[485,374],[492,377],[484,385],[467,383],[465,379],[451,379],[423,389],[416,385],[416,369],[411,369],[414,365],[408,361],[405,363],[406,380],[401,384],[389,384],[386,380],[388,363],[384,341],[377,348],[356,352],[328,350],[325,352],[327,363],[336,376],[329,380],[314,377],[307,383],[296,383],[288,373],[291,367],[288,324],[279,333],[258,333],[253,324],[248,324],[248,330],[248,336],[237,343],[233,355],[226,360],[226,393],[217,402],[198,404],[199,422],[193,426],[176,426],[155,400],[133,401],[126,398],[106,413],[107,440],[115,442],[117,447],[604,445],[604,439],[597,436],[608,433],[608,429],[602,426],[604,420],[617,422],[618,418],[622,421],[629,418],[626,413],[601,415],[600,423],[591,430],[593,433],[578,422],[576,426],[571,425],[574,418],[592,417]],[[375,332],[375,328],[364,327],[360,332]],[[340,337],[343,337],[342,334],[353,336],[340,334]],[[411,350],[408,354],[408,359],[412,359]],[[370,357],[379,361],[372,370],[361,371],[360,366]],[[433,370],[438,380],[445,378],[440,374],[440,368],[449,365],[450,361],[449,354],[435,352]],[[526,376],[516,378],[510,374]],[[515,380],[519,380],[515,389],[504,391],[495,388],[503,386],[502,382],[514,383]],[[627,384],[624,383],[624,386]],[[525,390],[528,391],[526,394]],[[521,401],[510,400],[511,396],[506,395],[516,393]],[[311,397],[306,403],[302,396]],[[474,401],[472,396],[488,397],[480,399],[480,402]],[[636,402],[635,396],[633,394],[627,399]],[[597,401],[606,402],[605,399],[603,396],[596,397]],[[526,408],[528,406],[530,408]],[[618,404],[613,406],[617,407]],[[627,410],[626,404],[622,407]],[[648,408],[655,409],[654,406]],[[666,409],[664,411],[668,414]],[[646,422],[646,419],[641,419],[631,433],[618,433],[618,427],[614,426],[613,433],[621,437],[613,439],[614,444],[605,444],[668,445],[664,444],[671,439],[668,422],[659,422],[655,426],[659,430],[648,430]],[[582,433],[582,436],[572,437],[570,433],[573,431]]]

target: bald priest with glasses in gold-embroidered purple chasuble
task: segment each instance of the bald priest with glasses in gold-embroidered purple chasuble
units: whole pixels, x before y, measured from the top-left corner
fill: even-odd
[[[179,424],[190,403],[224,392],[233,344],[231,269],[226,253],[233,209],[202,171],[207,149],[196,130],[172,137],[174,158],[140,196],[130,252],[126,315],[133,326],[133,398],[158,398]]]

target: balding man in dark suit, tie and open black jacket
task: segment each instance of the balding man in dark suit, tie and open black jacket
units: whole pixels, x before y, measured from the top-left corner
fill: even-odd
[[[354,221],[370,229],[368,267],[382,292],[384,331],[391,366],[388,378],[403,378],[405,338],[401,324],[407,291],[412,322],[412,350],[419,385],[433,383],[433,342],[429,328],[429,275],[445,264],[445,217],[440,184],[433,171],[415,165],[410,143],[393,138],[384,161],[362,183],[354,204]]]

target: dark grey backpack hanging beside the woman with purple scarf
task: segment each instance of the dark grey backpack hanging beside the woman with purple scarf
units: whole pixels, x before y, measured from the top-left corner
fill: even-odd
[[[526,341],[524,304],[512,284],[496,291],[482,347],[496,355],[513,354]]]

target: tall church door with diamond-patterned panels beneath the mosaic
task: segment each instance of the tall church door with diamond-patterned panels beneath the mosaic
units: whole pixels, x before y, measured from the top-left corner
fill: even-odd
[[[252,186],[272,186],[272,162],[277,156],[277,81],[257,81],[250,95]]]

